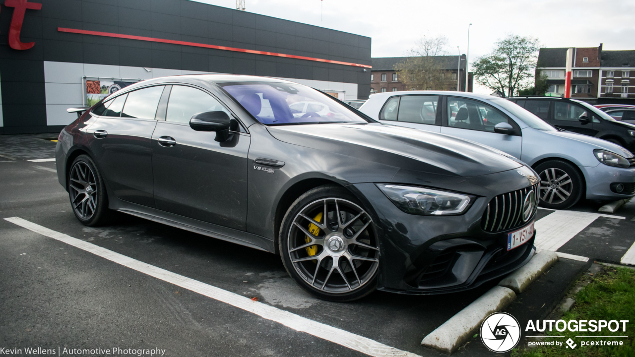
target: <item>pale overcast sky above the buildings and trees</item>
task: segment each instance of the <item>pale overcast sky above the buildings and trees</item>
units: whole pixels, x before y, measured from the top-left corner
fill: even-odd
[[[197,1],[236,8],[236,0]],[[466,53],[470,23],[470,62],[509,33],[544,47],[635,50],[635,0],[246,0],[246,11],[371,37],[372,57],[400,57],[439,35],[451,55],[457,46]]]

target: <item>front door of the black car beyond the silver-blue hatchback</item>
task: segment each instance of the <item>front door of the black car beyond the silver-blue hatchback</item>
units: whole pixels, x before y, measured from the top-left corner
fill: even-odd
[[[582,105],[565,100],[554,101],[553,119],[551,124],[558,128],[594,137],[600,130],[601,123],[593,118],[593,113]],[[590,123],[582,123],[578,118],[587,116]]]

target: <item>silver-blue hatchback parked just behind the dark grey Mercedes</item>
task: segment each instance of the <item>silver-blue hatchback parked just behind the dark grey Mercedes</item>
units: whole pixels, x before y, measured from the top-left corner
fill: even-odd
[[[551,113],[549,105],[545,108]],[[524,161],[540,175],[540,205],[547,208],[569,208],[580,198],[635,196],[631,152],[559,130],[504,98],[450,91],[377,93],[359,110],[382,123],[472,140]]]

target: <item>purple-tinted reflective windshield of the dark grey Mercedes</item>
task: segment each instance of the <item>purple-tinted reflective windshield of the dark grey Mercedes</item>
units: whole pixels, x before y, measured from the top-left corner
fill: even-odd
[[[367,123],[334,98],[301,84],[219,83],[265,125]]]

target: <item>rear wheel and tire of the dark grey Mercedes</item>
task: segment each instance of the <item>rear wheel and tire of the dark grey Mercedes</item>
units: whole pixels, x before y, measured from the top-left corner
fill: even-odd
[[[111,216],[104,179],[90,156],[77,156],[67,176],[70,206],[84,226],[99,226]]]

